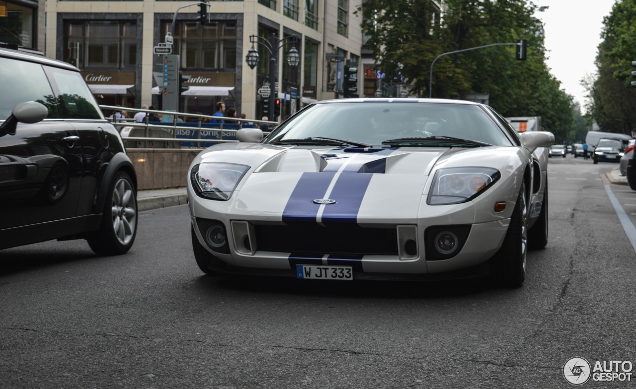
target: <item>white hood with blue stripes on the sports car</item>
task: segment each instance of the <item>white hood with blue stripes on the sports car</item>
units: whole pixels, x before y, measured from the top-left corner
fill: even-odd
[[[434,167],[489,166],[495,163],[489,158],[497,154],[492,148],[228,144],[207,149],[193,165],[225,162],[250,167],[228,200],[227,212],[235,217],[244,214],[252,220],[288,224],[356,220],[408,224],[417,221]],[[478,154],[484,158],[480,160]],[[509,154],[516,154],[516,149]],[[506,165],[506,160],[500,155],[497,161]]]

